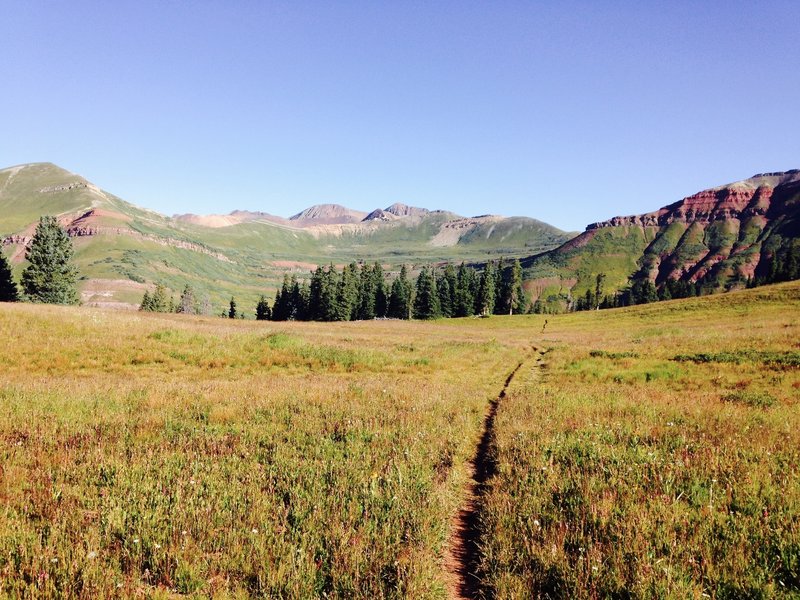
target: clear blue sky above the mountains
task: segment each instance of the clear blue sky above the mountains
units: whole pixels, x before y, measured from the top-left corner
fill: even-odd
[[[0,166],[562,229],[800,167],[792,2],[0,2]]]

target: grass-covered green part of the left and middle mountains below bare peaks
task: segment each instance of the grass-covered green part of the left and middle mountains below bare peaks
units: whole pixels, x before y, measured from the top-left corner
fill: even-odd
[[[430,240],[448,215],[432,213],[421,222],[397,222],[386,227],[365,227],[360,233],[314,237],[308,232],[266,222],[250,222],[213,229],[173,221],[140,209],[104,192],[85,187],[51,193],[43,188],[86,180],[49,163],[26,166],[13,175],[0,172],[0,237],[17,233],[32,225],[42,214],[80,215],[97,207],[119,215],[106,215],[93,225],[121,227],[138,234],[131,236],[93,236],[76,241],[78,265],[84,279],[108,279],[106,300],[135,302],[135,291],[124,280],[160,282],[177,295],[185,283],[192,283],[208,295],[215,312],[226,306],[231,296],[252,312],[258,297],[272,294],[283,268],[274,261],[323,264],[329,261],[381,261],[390,265],[440,261],[484,261],[498,254],[525,256],[549,249],[570,237],[533,219],[509,219],[493,228],[479,228],[474,235],[450,247],[435,247]],[[153,239],[141,239],[157,238]],[[165,247],[158,240],[191,242],[210,252],[221,253],[230,262],[220,261],[195,250]],[[17,273],[23,265],[16,267]],[[115,282],[114,280],[123,280]],[[101,297],[98,297],[101,298]],[[98,298],[89,299],[96,300]]]

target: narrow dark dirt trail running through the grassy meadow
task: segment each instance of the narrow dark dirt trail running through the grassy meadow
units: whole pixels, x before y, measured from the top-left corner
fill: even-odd
[[[474,456],[467,463],[468,479],[464,485],[463,500],[461,508],[453,518],[450,540],[445,551],[444,568],[448,598],[453,600],[480,597],[481,582],[478,575],[481,561],[480,505],[481,497],[486,493],[486,484],[494,476],[496,469],[490,446],[494,437],[497,409],[523,365],[535,362],[532,369],[538,370],[542,365],[543,355],[544,351],[532,348],[528,356],[509,373],[503,389],[487,407],[480,441]]]

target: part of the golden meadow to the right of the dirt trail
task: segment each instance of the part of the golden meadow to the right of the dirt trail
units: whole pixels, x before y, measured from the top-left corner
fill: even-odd
[[[800,594],[798,340],[797,283],[550,316],[497,417],[487,591]]]

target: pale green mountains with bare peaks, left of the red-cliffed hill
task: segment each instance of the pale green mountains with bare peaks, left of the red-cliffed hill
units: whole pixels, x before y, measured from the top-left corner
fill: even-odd
[[[176,297],[191,284],[214,312],[231,296],[252,312],[287,270],[304,276],[329,262],[379,261],[393,270],[522,258],[573,235],[534,219],[463,219],[443,211],[344,226],[255,219],[209,227],[141,209],[51,163],[0,170],[0,214],[3,251],[17,275],[39,217],[55,215],[73,238],[84,302],[133,307],[155,283]]]

